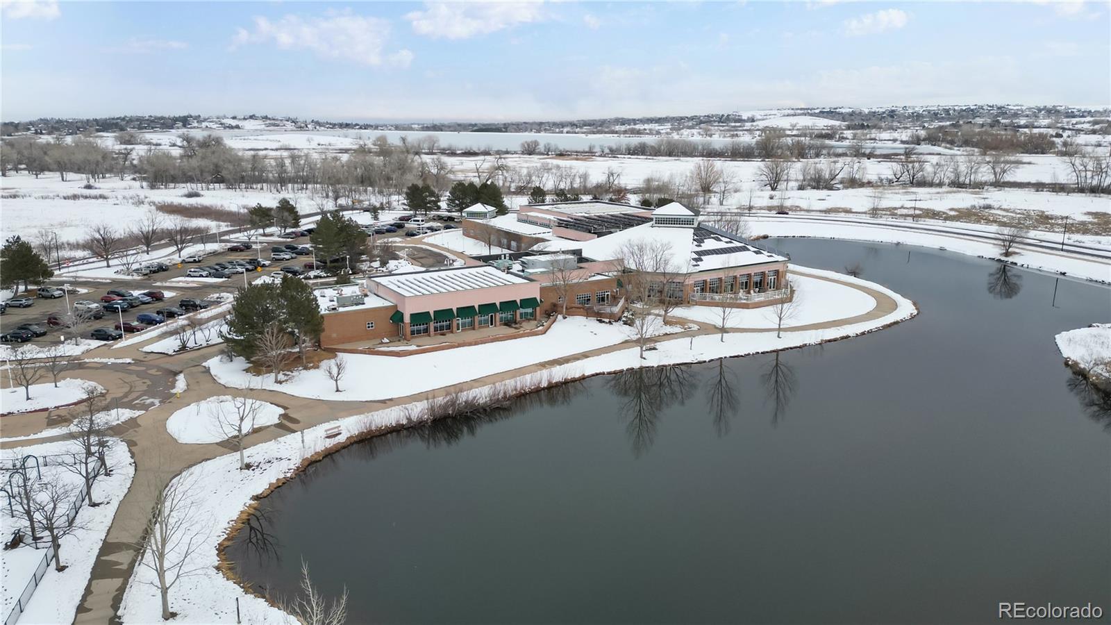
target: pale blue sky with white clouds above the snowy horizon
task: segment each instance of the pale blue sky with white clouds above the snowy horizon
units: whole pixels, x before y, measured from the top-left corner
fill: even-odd
[[[547,120],[1111,100],[1107,2],[13,2],[0,117]]]

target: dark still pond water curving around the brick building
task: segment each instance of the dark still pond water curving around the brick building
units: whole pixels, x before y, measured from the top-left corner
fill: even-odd
[[[1111,612],[1111,407],[1053,343],[1111,318],[1111,289],[921,248],[774,245],[860,262],[921,314],[350,447],[267,499],[231,549],[241,574],[288,594],[304,558],[359,623]]]

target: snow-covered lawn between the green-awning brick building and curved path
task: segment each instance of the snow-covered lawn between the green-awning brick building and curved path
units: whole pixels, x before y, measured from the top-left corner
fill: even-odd
[[[657,328],[655,334],[682,329],[664,326]],[[242,358],[229,363],[217,357],[204,365],[217,381],[231,388],[250,386],[316,399],[369,401],[424,393],[632,338],[632,329],[622,324],[600,324],[594,319],[569,317],[557,320],[541,336],[518,338],[512,343],[489,343],[404,358],[344,354],[348,371],[340,381],[342,393],[336,393],[336,386],[328,379],[323,367],[289,373],[281,384],[274,384],[272,375],[253,376],[247,373],[247,363]]]

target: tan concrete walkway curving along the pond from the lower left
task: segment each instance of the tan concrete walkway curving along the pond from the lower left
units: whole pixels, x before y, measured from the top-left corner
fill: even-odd
[[[898,307],[898,304],[887,294],[830,278],[815,276],[805,271],[794,271],[795,274],[815,279],[828,280],[844,285],[847,287],[862,291],[875,300],[875,306],[870,311],[845,319],[823,321],[820,324],[808,324],[803,326],[784,327],[784,333],[808,331],[815,329],[833,328],[850,324],[858,324],[879,319]],[[698,329],[684,330],[672,335],[665,335],[650,339],[651,343],[663,340],[675,340],[691,336],[715,335],[720,330],[708,325],[695,323]],[[753,328],[730,328],[729,333],[769,333],[774,329]],[[120,397],[121,407],[134,407],[146,409],[150,407],[150,400],[159,404],[148,409],[143,415],[124,421],[116,426],[113,434],[119,436],[131,449],[136,463],[134,480],[130,490],[120,502],[119,509],[108,530],[108,535],[97,560],[93,565],[91,579],[86,587],[81,604],[78,607],[76,623],[81,624],[103,624],[118,622],[117,612],[122,601],[127,582],[136,566],[138,550],[134,548],[141,536],[146,518],[153,505],[154,495],[160,492],[176,475],[197,463],[228,454],[233,450],[230,444],[209,445],[183,445],[169,435],[166,429],[166,421],[179,408],[189,404],[200,401],[214,395],[248,395],[250,397],[269,401],[280,406],[284,413],[281,420],[272,426],[263,427],[251,434],[246,444],[248,446],[259,445],[273,440],[281,436],[298,430],[307,429],[322,423],[336,420],[353,415],[371,413],[390,406],[409,404],[417,400],[427,399],[429,396],[443,396],[459,393],[471,388],[478,388],[490,384],[510,380],[523,375],[544,370],[547,368],[574,363],[584,358],[610,354],[630,347],[635,347],[634,341],[624,341],[598,349],[591,349],[573,356],[557,358],[543,363],[537,363],[527,367],[492,374],[470,381],[449,387],[434,389],[430,393],[420,393],[406,397],[396,397],[381,401],[332,401],[327,405],[320,399],[307,399],[278,393],[273,390],[242,391],[227,388],[218,384],[208,369],[202,364],[220,354],[221,346],[212,346],[198,349],[184,355],[161,355],[140,351],[140,345],[132,345],[118,349],[107,347],[97,348],[90,353],[103,358],[132,358],[133,365],[104,365],[99,363],[88,363],[74,368],[67,374],[68,377],[92,379],[108,389],[109,398],[114,400]],[[183,373],[188,389],[174,396],[170,389],[174,385],[174,378],[179,373]],[[142,405],[147,401],[146,405]],[[323,408],[323,409],[322,409]],[[12,417],[19,417],[13,415]],[[40,431],[50,426],[51,419],[57,424],[62,417],[56,416],[29,416],[32,418],[12,421],[12,417],[3,417],[4,434],[11,436],[31,434]],[[9,430],[9,427],[14,428]],[[38,427],[39,429],[33,429]],[[28,430],[28,431],[23,431]],[[17,431],[19,434],[17,434]],[[28,442],[0,440],[0,447],[14,447],[33,445],[63,437],[50,437]]]

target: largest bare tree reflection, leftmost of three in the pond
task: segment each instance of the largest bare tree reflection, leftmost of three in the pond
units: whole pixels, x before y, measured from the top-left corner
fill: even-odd
[[[698,388],[689,366],[639,367],[610,377],[610,389],[627,398],[620,407],[625,419],[625,431],[632,445],[633,457],[639,458],[655,440],[655,426],[660,414],[675,405],[684,404]]]

